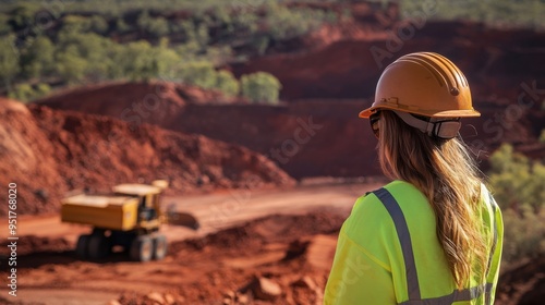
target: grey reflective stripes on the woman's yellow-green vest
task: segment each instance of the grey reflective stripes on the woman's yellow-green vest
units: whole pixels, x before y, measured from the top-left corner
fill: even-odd
[[[411,233],[409,232],[409,227],[407,225],[407,220],[403,216],[403,211],[399,207],[398,202],[393,198],[390,192],[388,192],[388,190],[382,187],[372,193],[375,194],[375,196],[377,196],[377,198],[383,203],[385,208],[388,210],[388,213],[390,215],[391,219],[393,220],[396,232],[398,233],[399,243],[401,245],[401,251],[403,253],[403,259],[405,265],[405,277],[407,277],[407,292],[409,294],[409,301],[399,303],[400,305],[424,305],[424,304],[450,305],[453,302],[471,301],[473,298],[477,298],[483,293],[485,294],[486,303],[491,304],[489,295],[493,289],[492,283],[486,283],[460,291],[455,290],[452,293],[439,297],[421,298],[419,276],[416,270],[416,264],[414,263],[414,253],[411,243]],[[491,263],[497,240],[496,221],[495,221],[496,207],[493,200],[494,199],[492,198],[491,205],[493,206],[494,209],[494,243],[491,252],[491,258],[489,258]]]

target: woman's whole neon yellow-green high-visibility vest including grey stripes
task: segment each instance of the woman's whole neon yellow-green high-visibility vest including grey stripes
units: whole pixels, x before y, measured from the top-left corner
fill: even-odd
[[[324,295],[326,305],[443,305],[494,302],[504,223],[482,185],[481,215],[489,259],[486,282],[459,291],[436,235],[427,198],[412,184],[393,181],[360,197],[339,232]]]

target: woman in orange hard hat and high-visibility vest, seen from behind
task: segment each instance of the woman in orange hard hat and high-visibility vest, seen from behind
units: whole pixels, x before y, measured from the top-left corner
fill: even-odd
[[[445,57],[386,68],[360,117],[392,182],[359,198],[342,225],[324,304],[493,304],[501,213],[457,137],[460,118],[479,115]]]

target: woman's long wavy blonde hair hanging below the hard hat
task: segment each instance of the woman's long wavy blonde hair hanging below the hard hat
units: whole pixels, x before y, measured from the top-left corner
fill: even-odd
[[[485,279],[488,254],[482,224],[475,221],[481,198],[479,170],[458,138],[433,138],[407,125],[393,112],[380,111],[378,155],[390,179],[413,184],[429,200],[437,239],[456,285],[461,290],[476,268]]]

